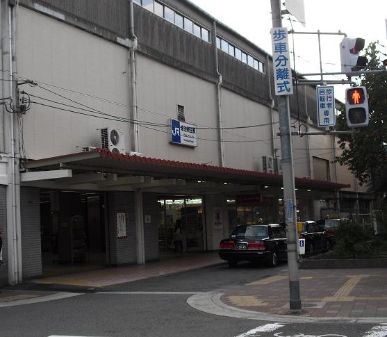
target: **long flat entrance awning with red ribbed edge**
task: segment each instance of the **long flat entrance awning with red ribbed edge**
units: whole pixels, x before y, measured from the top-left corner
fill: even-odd
[[[113,189],[114,186],[151,186],[183,185],[195,183],[204,186],[214,183],[227,188],[227,185],[282,186],[281,174],[240,170],[230,167],[170,161],[138,155],[115,154],[106,149],[94,149],[76,154],[24,161],[22,163],[22,186],[42,186],[59,188],[73,185],[74,188],[98,190]],[[50,183],[51,182],[51,183]],[[153,184],[153,185],[152,185]],[[52,186],[50,186],[52,185]],[[93,187],[94,186],[94,187]],[[314,179],[295,179],[296,188],[316,188],[333,191],[348,188],[349,185],[318,181]],[[243,190],[243,188],[242,188]]]

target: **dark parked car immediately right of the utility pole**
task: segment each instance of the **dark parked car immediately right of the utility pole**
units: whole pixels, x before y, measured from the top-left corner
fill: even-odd
[[[297,223],[299,238],[305,239],[306,255],[329,250],[329,239],[326,231],[319,228],[315,221],[308,220]]]

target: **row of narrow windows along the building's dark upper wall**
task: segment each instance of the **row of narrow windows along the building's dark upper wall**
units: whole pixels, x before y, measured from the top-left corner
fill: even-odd
[[[210,42],[210,31],[208,31],[207,28],[199,26],[199,24],[196,24],[191,19],[188,19],[188,17],[185,17],[175,12],[174,10],[172,10],[172,8],[169,8],[155,0],[133,0],[133,1],[135,3],[138,3],[138,5],[144,7],[145,9],[151,11],[152,13],[155,13],[156,15],[163,17],[167,21],[172,22],[172,24],[176,24],[176,26],[183,28],[184,30],[197,36],[198,38],[201,38],[206,42]],[[219,36],[217,36],[216,45],[218,49],[237,58],[243,63],[246,63],[250,67],[253,67],[254,69],[260,72],[263,72],[264,70],[263,63],[260,60],[245,53],[245,51],[242,51],[242,49],[239,49],[238,47],[231,44],[227,40],[224,40]]]

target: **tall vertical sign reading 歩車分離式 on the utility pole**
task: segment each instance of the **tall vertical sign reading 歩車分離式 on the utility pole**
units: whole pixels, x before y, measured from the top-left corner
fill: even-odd
[[[274,90],[276,95],[293,94],[293,77],[290,67],[288,31],[277,27],[272,35]]]

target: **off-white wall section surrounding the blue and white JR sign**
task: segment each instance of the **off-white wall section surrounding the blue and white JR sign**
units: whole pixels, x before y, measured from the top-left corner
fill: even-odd
[[[219,165],[215,84],[138,55],[138,120],[159,125],[140,126],[140,152],[154,158]],[[197,126],[197,147],[170,144],[170,118],[177,104],[186,122]],[[204,129],[202,129],[204,128]]]

